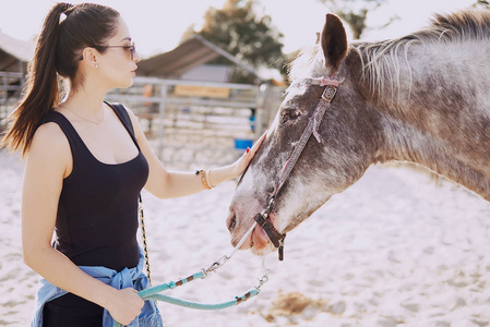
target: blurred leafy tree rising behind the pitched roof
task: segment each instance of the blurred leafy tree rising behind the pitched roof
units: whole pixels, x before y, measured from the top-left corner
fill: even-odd
[[[258,16],[254,5],[254,0],[227,0],[223,9],[211,7],[198,34],[255,69],[283,69],[283,34],[273,25],[271,16]],[[217,62],[227,60],[219,58]],[[252,80],[240,69],[232,77],[237,83]]]

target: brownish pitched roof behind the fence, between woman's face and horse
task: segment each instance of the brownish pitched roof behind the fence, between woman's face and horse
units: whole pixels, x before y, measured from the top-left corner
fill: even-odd
[[[200,35],[194,35],[174,50],[141,60],[138,63],[138,74],[144,76],[179,78],[183,73],[220,56],[244,69],[250,74],[263,80],[254,69],[222,48],[213,45]]]

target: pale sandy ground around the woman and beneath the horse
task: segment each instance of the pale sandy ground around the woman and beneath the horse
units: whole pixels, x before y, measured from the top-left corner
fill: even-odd
[[[22,164],[0,152],[0,325],[27,326],[38,276],[22,262]],[[186,198],[144,193],[154,283],[207,267],[231,250],[234,182]],[[218,312],[159,303],[165,326],[490,326],[490,204],[408,168],[375,166],[266,257],[254,299]],[[217,274],[167,294],[228,301],[258,282],[239,252]]]

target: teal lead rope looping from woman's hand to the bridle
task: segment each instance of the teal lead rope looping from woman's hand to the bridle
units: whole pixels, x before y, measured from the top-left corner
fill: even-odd
[[[223,302],[223,303],[215,303],[215,304],[205,304],[205,303],[196,303],[196,302],[186,301],[186,300],[176,299],[176,298],[160,294],[160,292],[187,284],[193,280],[204,279],[207,277],[207,275],[211,271],[216,271],[219,267],[225,265],[235,255],[235,253],[238,251],[238,249],[240,249],[241,244],[249,237],[249,234],[252,232],[252,230],[255,228],[255,226],[256,226],[256,222],[254,222],[252,225],[252,227],[243,235],[243,238],[240,240],[240,242],[238,242],[237,246],[235,246],[234,251],[231,252],[231,254],[229,256],[227,256],[227,255],[222,256],[217,262],[215,262],[213,265],[211,265],[207,269],[202,269],[187,278],[179,279],[178,281],[170,281],[167,283],[151,287],[148,289],[138,292],[138,294],[143,300],[163,301],[163,302],[167,302],[170,304],[180,305],[180,306],[184,306],[184,307],[190,307],[190,308],[195,308],[195,310],[208,310],[208,311],[222,310],[222,308],[235,306],[235,305],[243,303],[244,301],[255,296],[256,294],[260,293],[261,287],[268,280],[270,270],[265,268],[265,258],[262,262],[262,267],[264,268],[265,272],[262,276],[262,278],[259,279],[259,284],[254,286],[250,291],[248,291],[243,295],[235,296],[235,299],[231,301]],[[113,327],[121,327],[121,326],[122,325],[119,324],[118,322],[116,322],[116,320],[113,322]]]

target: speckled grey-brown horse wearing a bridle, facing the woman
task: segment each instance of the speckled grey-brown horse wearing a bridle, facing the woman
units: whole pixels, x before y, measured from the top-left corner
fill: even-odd
[[[409,35],[350,44],[326,14],[237,183],[226,219],[231,245],[255,220],[240,249],[274,251],[378,162],[423,166],[490,201],[489,53],[490,12],[435,14]]]

